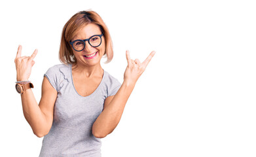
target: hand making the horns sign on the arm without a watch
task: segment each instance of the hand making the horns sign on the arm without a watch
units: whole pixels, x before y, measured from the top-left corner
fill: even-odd
[[[155,53],[155,51],[151,52],[151,54],[149,54],[146,60],[141,63],[138,59],[131,60],[130,52],[126,50],[126,60],[128,62],[128,65],[124,72],[124,82],[126,82],[126,84],[135,85],[137,79],[139,79],[141,74],[145,71],[147,65],[149,64],[149,61],[151,61]]]

